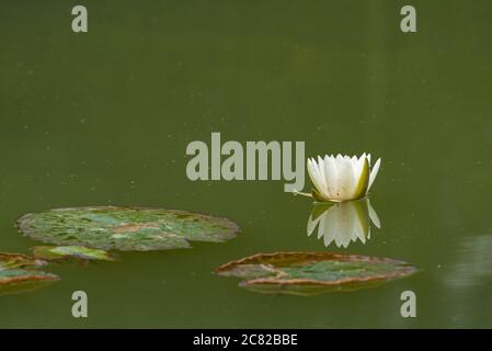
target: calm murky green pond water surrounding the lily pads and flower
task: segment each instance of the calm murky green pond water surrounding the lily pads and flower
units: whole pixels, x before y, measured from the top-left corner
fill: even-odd
[[[186,210],[241,227],[224,244],[52,264],[61,279],[0,296],[0,327],[492,327],[490,1],[83,1],[0,4],[0,251],[39,245],[25,213]],[[370,238],[308,236],[284,181],[186,178],[192,140],[302,140],[306,156],[382,158]],[[309,179],[306,189],[309,189]],[[342,240],[343,241],[343,240]],[[356,292],[260,294],[215,268],[258,252],[335,251],[420,271]],[[71,316],[71,294],[89,317]],[[416,294],[402,318],[400,294]]]

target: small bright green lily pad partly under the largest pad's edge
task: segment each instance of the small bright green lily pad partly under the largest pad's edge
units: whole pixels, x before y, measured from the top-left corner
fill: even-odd
[[[107,251],[90,249],[83,246],[36,246],[33,248],[33,256],[47,261],[70,258],[90,261],[114,261]]]

